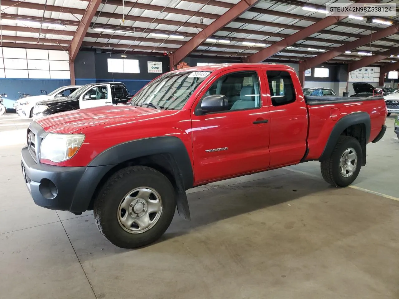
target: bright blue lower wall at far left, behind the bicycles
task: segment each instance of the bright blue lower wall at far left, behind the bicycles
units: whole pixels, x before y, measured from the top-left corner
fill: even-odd
[[[58,87],[70,85],[69,79],[0,79],[0,93],[6,93],[3,104],[7,108],[13,108],[12,105],[18,100],[20,94],[25,92],[32,96],[40,95],[40,89],[47,90],[47,93]]]

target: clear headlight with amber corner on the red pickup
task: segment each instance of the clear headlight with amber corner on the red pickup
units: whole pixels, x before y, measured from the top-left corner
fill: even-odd
[[[45,136],[40,146],[40,159],[62,162],[71,159],[85,140],[83,134],[55,134]]]

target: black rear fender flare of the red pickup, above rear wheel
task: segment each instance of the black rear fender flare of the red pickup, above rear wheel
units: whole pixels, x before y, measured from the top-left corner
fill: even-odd
[[[330,157],[342,132],[344,132],[346,128],[356,124],[363,124],[365,126],[365,142],[364,144],[363,142],[360,143],[362,149],[362,165],[364,166],[366,162],[366,144],[369,141],[371,131],[371,120],[367,112],[351,113],[338,120],[328,137],[326,146],[324,147],[323,153],[320,155],[319,161]]]

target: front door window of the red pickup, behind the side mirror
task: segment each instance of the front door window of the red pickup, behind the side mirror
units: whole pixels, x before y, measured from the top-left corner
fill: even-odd
[[[229,101],[228,110],[261,106],[259,78],[254,71],[231,73],[221,77],[209,87],[205,95],[211,94],[224,94]]]

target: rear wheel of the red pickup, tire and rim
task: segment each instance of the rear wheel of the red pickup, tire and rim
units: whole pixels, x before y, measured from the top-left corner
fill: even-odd
[[[323,179],[335,187],[346,187],[358,177],[361,161],[359,141],[350,136],[340,136],[331,156],[321,162]]]

